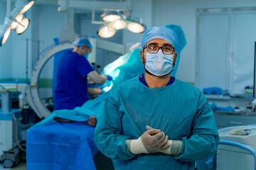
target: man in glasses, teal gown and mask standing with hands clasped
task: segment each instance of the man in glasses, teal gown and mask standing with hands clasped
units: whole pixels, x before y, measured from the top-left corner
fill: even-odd
[[[110,91],[95,144],[115,169],[195,169],[216,151],[218,131],[202,91],[170,76],[177,50],[173,30],[150,28],[142,38],[144,74]]]

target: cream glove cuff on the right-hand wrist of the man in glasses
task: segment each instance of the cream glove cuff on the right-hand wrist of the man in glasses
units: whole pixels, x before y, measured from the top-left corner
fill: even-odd
[[[168,143],[170,146],[164,150],[161,150],[160,152],[171,155],[177,155],[179,154],[179,152],[181,152],[181,148],[183,145],[181,140],[168,140]]]

